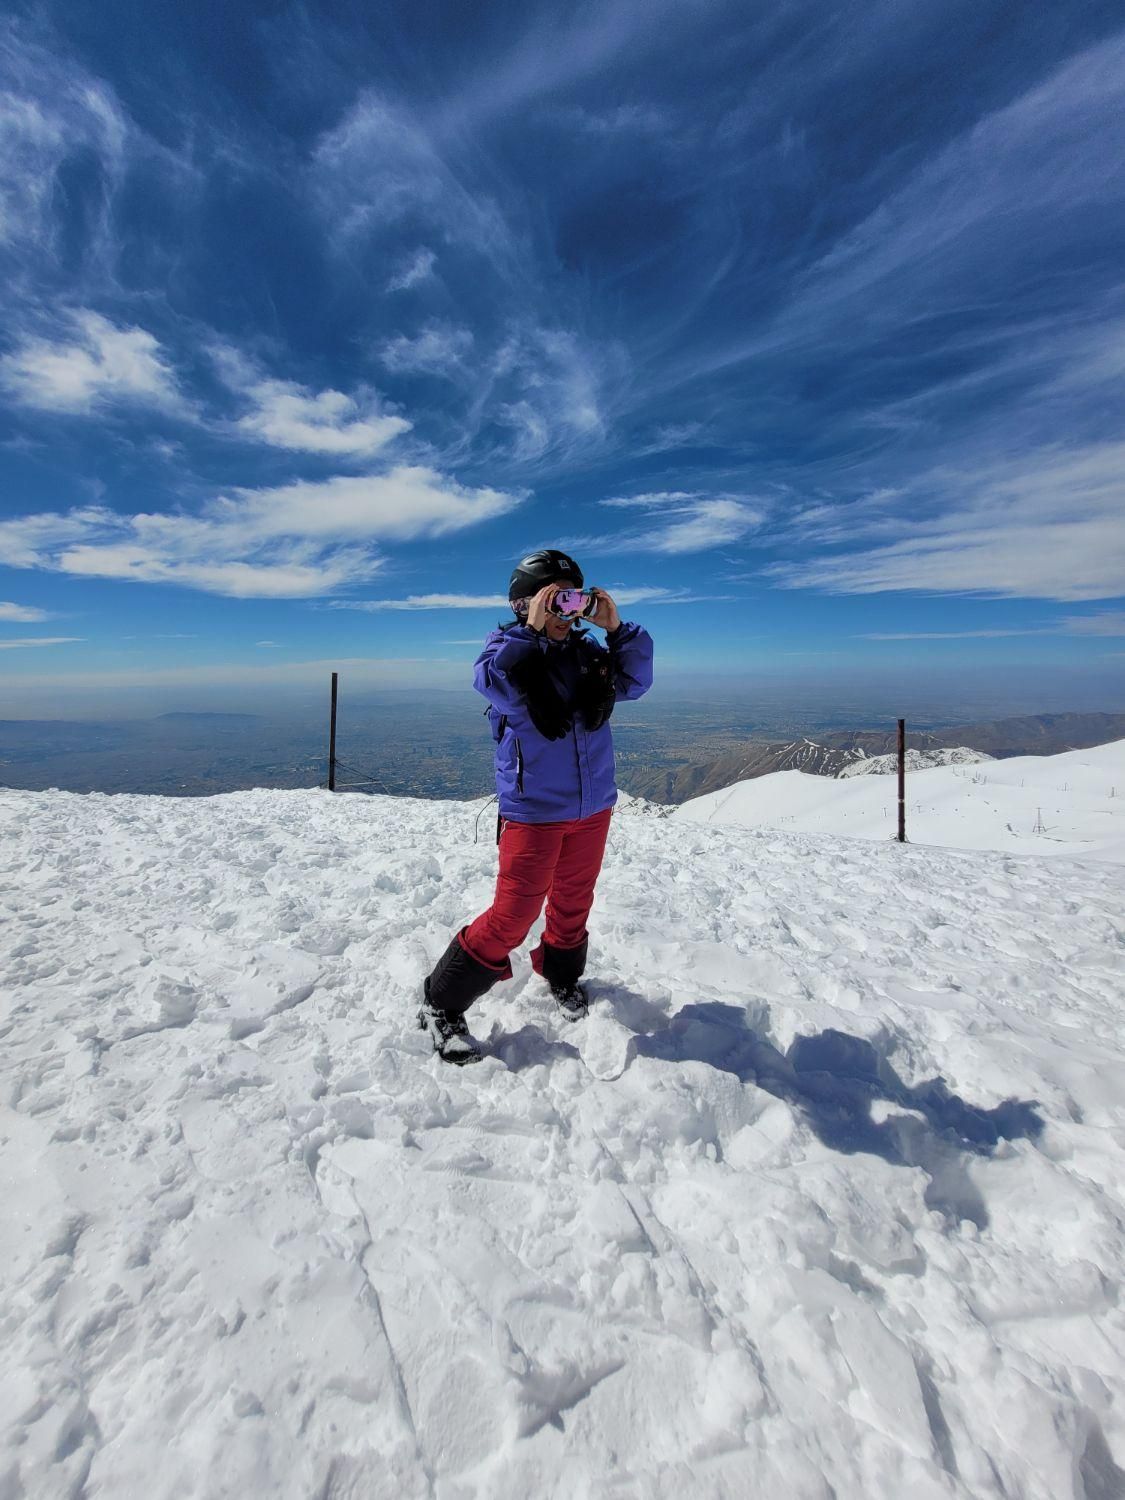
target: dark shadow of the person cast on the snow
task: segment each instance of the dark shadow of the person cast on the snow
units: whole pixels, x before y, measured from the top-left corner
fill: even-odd
[[[942,1078],[910,1088],[870,1041],[846,1032],[798,1036],[782,1053],[752,1030],[744,1011],[720,1002],[686,1005],[663,1029],[636,1035],[630,1053],[666,1062],[694,1059],[756,1083],[798,1108],[834,1150],[921,1167],[930,1178],[927,1206],[981,1228],[988,1216],[963,1155],[987,1156],[1002,1140],[1034,1140],[1042,1130],[1030,1101],[980,1108],[951,1094]],[[879,1100],[910,1113],[876,1120],[872,1106]]]

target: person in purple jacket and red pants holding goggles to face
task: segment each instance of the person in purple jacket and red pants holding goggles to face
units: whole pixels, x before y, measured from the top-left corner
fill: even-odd
[[[516,620],[494,630],[472,682],[489,700],[496,741],[500,872],[492,906],[462,927],[424,982],[418,1026],[447,1062],[477,1062],[465,1011],[500,980],[508,954],[548,903],[531,954],[568,1020],[586,1014],[578,982],[586,964],[586,916],[616,802],[609,716],[652,686],[652,638],[622,624],[603,590],[584,590],[566,552],[532,552],[508,585]],[[582,620],[606,632],[596,644]]]

